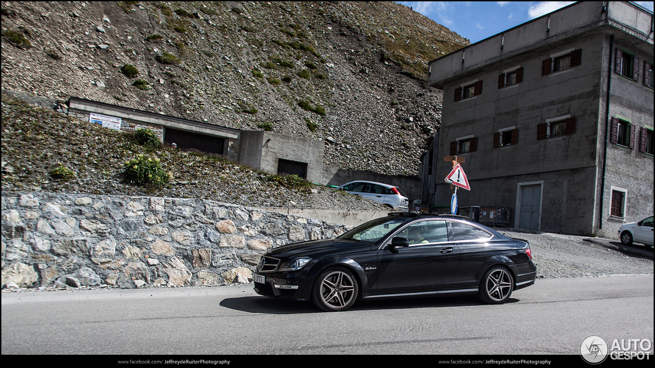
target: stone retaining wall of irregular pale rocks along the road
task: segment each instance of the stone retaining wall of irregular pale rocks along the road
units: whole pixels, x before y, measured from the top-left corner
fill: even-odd
[[[268,249],[351,228],[210,200],[2,193],[2,287],[252,282]]]

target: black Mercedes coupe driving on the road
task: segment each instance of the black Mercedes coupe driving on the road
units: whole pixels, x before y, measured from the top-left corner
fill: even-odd
[[[347,310],[357,300],[477,294],[506,302],[534,284],[526,240],[460,216],[389,213],[335,239],[274,248],[255,270],[255,291]]]

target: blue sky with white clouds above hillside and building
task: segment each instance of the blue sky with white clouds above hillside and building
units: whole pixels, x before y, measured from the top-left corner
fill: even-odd
[[[574,1],[396,1],[476,43]],[[634,1],[653,11],[652,1]]]

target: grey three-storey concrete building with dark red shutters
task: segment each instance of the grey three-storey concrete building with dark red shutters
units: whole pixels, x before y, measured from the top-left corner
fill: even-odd
[[[574,3],[430,62],[441,129],[422,164],[422,200],[506,206],[522,229],[616,238],[653,213],[653,14]]]

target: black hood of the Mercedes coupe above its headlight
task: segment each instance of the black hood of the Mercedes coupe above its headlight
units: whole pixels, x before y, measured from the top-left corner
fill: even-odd
[[[266,253],[269,257],[280,260],[287,260],[295,257],[326,257],[328,255],[351,253],[371,249],[373,243],[363,242],[361,240],[345,239],[328,239],[328,240],[310,240],[309,242],[300,242],[289,244],[287,246],[272,249]]]

